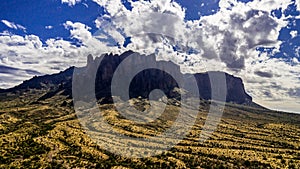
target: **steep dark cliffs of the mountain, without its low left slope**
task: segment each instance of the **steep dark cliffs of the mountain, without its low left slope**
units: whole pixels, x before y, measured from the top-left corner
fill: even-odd
[[[95,92],[97,99],[110,97],[111,94],[111,86],[112,86],[112,78],[116,69],[122,69],[120,72],[124,72],[122,78],[126,80],[126,76],[129,70],[132,69],[132,66],[138,66],[139,64],[145,62],[140,61],[139,59],[133,60],[128,65],[121,65],[122,62],[127,57],[132,57],[134,52],[128,51],[123,53],[122,55],[112,55],[106,54],[101,56],[100,58],[95,58],[93,60],[91,57],[88,57],[88,64],[86,66],[86,70],[84,71],[82,77],[84,83],[86,81],[95,81]],[[149,57],[149,62],[155,60],[155,56],[141,56],[141,57]],[[138,57],[139,58],[139,57]],[[101,60],[101,63],[100,63]],[[161,89],[168,97],[176,97],[180,98],[179,93],[176,92],[176,88],[179,88],[179,84],[176,80],[168,73],[162,70],[171,69],[174,71],[173,75],[182,76],[184,81],[186,81],[187,91],[189,86],[189,78],[194,76],[201,99],[210,100],[211,99],[211,84],[209,73],[197,73],[197,74],[181,74],[179,66],[175,65],[172,62],[165,61],[156,61],[157,64],[161,64],[162,69],[145,69],[139,73],[137,73],[132,79],[129,86],[129,96],[131,98],[136,97],[144,97],[147,98],[150,92],[154,89]],[[165,66],[165,68],[164,68]],[[166,67],[167,66],[167,67]],[[120,68],[121,67],[121,68]],[[89,77],[93,72],[97,72],[96,78]],[[224,74],[223,72],[213,72],[215,74]],[[129,73],[130,74],[130,73]],[[129,78],[129,77],[128,77]],[[226,102],[233,102],[238,104],[251,103],[252,98],[249,96],[244,89],[244,84],[241,78],[234,77],[225,73],[226,78],[226,87],[227,87],[227,96]],[[95,80],[96,79],[96,80]],[[122,82],[121,82],[122,83]],[[123,84],[118,84],[123,85]],[[222,85],[222,84],[219,84]],[[225,85],[225,84],[224,84]]]

